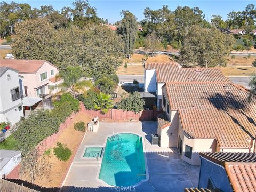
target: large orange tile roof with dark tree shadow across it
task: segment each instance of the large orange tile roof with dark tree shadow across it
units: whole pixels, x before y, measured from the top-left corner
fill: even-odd
[[[256,135],[256,100],[233,83],[167,82],[171,110],[178,110],[182,128],[194,138],[217,139],[222,148],[250,148]]]

